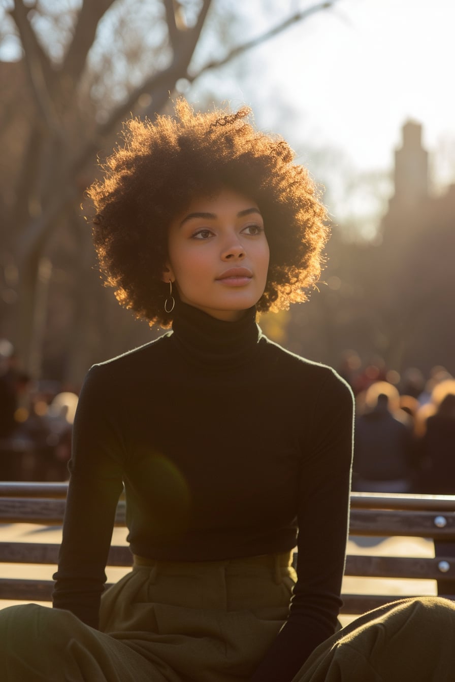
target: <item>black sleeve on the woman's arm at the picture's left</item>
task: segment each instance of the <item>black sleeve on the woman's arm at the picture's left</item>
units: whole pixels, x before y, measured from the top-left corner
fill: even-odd
[[[70,483],[53,606],[98,626],[100,595],[122,490],[122,440],[116,406],[100,368],[91,368],[74,420]]]

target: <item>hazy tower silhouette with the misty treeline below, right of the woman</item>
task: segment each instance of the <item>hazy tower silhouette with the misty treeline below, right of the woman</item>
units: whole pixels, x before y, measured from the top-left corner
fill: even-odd
[[[364,364],[455,374],[455,185],[432,191],[422,125],[407,121],[394,153],[394,194],[375,243],[348,243],[334,227],[327,269],[309,303],[294,306],[287,345],[339,366],[346,349]]]

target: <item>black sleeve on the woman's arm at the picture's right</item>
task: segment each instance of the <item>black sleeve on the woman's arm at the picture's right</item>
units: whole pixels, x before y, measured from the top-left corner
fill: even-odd
[[[341,605],[349,520],[353,397],[334,374],[321,389],[303,436],[299,481],[298,565],[289,618],[252,682],[290,681],[333,634]]]

